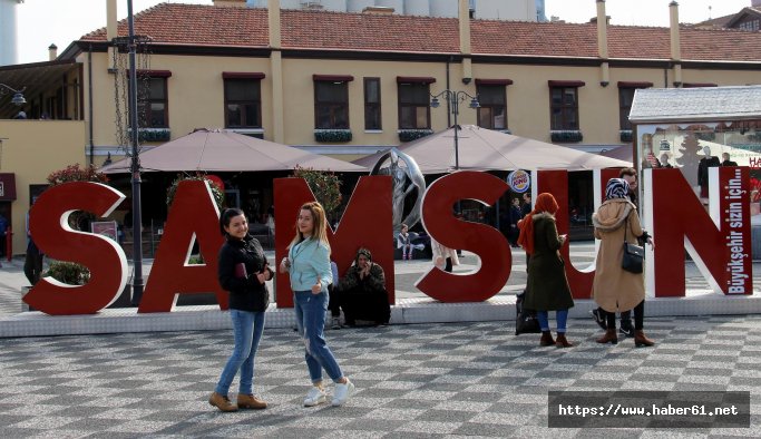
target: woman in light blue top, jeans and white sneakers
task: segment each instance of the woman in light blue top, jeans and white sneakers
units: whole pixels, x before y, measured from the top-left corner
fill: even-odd
[[[289,255],[280,264],[280,271],[290,273],[296,326],[306,347],[306,368],[313,387],[306,393],[304,407],[328,401],[322,384],[323,369],[335,383],[332,403],[341,406],[354,392],[354,384],[343,375],[323,334],[330,300],[328,285],[333,282],[333,274],[330,270],[328,221],[320,203],[312,202],[301,206],[296,235],[289,246]]]

